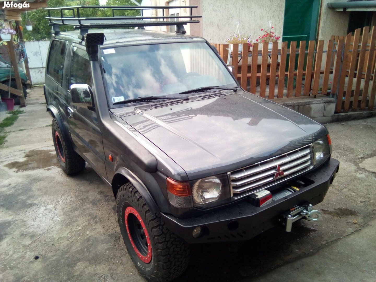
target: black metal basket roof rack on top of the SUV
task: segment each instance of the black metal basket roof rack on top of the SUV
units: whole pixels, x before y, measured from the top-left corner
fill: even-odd
[[[193,8],[197,6],[71,6],[60,8],[45,8],[48,11],[50,25],[53,26],[53,32],[59,32],[59,26],[74,26],[75,29],[81,29],[81,35],[87,33],[89,28],[109,28],[109,27],[139,27],[145,26],[177,26],[176,32],[185,34],[184,24],[199,23],[193,18],[202,18],[194,16]],[[85,9],[111,9],[112,16],[109,17],[82,17]],[[170,15],[169,9],[190,9],[189,15],[184,16],[165,16]],[[116,15],[119,11],[140,11],[141,16]],[[162,10],[162,16],[143,16],[144,10]],[[58,16],[52,16],[55,12]]]

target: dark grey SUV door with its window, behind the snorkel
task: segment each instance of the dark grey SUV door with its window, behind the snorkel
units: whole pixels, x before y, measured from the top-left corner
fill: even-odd
[[[99,129],[95,105],[91,106],[90,97],[72,99],[70,86],[87,84],[92,89],[91,67],[86,50],[80,45],[73,45],[70,73],[68,77],[68,118],[73,143],[86,157],[94,170],[106,176],[105,153],[103,150],[102,133]]]

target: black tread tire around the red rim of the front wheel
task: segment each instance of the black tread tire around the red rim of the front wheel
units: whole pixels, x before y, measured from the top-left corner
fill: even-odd
[[[152,282],[167,282],[182,274],[189,262],[189,245],[167,229],[159,213],[151,214],[145,200],[132,183],[119,188],[116,202],[121,235],[137,270]],[[145,234],[150,234],[152,257],[149,263],[139,258],[128,236],[125,214],[131,209],[141,217],[147,230]]]

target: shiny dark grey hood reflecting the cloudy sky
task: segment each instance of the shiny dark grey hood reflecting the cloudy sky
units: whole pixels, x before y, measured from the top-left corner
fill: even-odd
[[[310,118],[243,91],[139,111],[122,119],[170,156],[190,179],[272,158],[327,133]]]

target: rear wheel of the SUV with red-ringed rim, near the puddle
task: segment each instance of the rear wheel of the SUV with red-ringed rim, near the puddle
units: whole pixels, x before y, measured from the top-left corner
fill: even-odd
[[[60,167],[66,174],[76,174],[85,168],[85,160],[67,146],[56,118],[52,120],[52,139]]]

